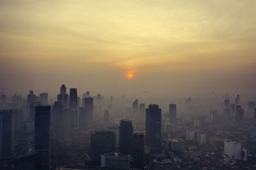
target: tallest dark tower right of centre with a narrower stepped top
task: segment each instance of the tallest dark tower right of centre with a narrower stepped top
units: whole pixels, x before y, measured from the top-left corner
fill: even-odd
[[[161,109],[157,104],[146,109],[146,145],[152,148],[161,145]]]

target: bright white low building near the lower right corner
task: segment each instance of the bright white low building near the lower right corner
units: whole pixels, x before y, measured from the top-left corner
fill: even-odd
[[[230,139],[225,139],[224,141],[224,153],[228,157],[236,160],[246,160],[247,152],[245,148],[242,148],[241,143],[236,141],[231,141]]]

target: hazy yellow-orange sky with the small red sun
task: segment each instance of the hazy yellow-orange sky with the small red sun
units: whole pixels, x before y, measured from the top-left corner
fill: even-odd
[[[0,0],[0,90],[256,94],[255,0]]]

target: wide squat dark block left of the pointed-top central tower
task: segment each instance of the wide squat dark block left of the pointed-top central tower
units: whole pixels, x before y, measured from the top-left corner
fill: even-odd
[[[91,134],[92,159],[99,160],[100,154],[115,151],[115,134],[110,131],[99,131]]]

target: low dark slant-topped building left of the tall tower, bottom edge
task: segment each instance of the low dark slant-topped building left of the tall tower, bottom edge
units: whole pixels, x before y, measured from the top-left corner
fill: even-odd
[[[26,153],[13,159],[13,170],[36,170],[37,153]]]

